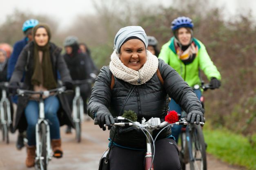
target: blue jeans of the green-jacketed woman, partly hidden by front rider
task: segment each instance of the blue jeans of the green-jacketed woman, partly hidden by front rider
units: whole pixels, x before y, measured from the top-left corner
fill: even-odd
[[[202,96],[201,90],[196,89],[196,90],[194,90],[194,92],[196,93],[198,99],[200,100],[200,97]],[[171,99],[171,101],[169,102],[169,111],[171,111],[171,110],[175,110],[178,114],[181,114],[181,111],[182,111],[180,106],[173,99]],[[171,135],[173,135],[175,137],[175,141],[177,143],[178,143],[178,137],[180,135],[182,126],[183,125],[174,124],[174,126],[171,127]]]

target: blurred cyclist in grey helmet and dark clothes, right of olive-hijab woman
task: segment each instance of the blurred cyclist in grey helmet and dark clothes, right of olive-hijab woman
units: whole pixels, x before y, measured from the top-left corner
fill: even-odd
[[[64,41],[66,53],[63,55],[67,67],[73,81],[76,80],[86,80],[93,79],[92,77],[93,70],[91,69],[91,61],[87,54],[82,53],[79,49],[78,38],[74,36],[68,36]],[[95,74],[94,74],[95,75]],[[84,111],[86,113],[87,108],[87,98],[91,95],[91,84],[82,84],[80,85],[80,95],[83,99]],[[72,100],[74,94],[69,97],[69,104],[72,107]],[[71,133],[70,126],[67,128],[66,133]]]

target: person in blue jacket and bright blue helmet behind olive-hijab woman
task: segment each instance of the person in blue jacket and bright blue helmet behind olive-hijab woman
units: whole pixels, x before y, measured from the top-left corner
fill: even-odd
[[[14,44],[14,47],[13,47],[13,53],[11,54],[11,57],[8,61],[8,67],[7,67],[7,80],[10,80],[11,78],[11,75],[13,74],[13,71],[14,71],[14,67],[16,65],[16,62],[18,60],[18,57],[20,55],[20,52],[22,51],[22,49],[24,48],[24,46],[26,46],[30,41],[33,40],[33,36],[32,36],[32,29],[34,26],[36,26],[38,24],[38,20],[34,20],[34,19],[30,19],[30,20],[27,20],[23,23],[23,26],[22,26],[22,31],[25,35],[25,37],[20,40],[20,41],[17,41],[15,44]],[[22,78],[23,79],[23,78]],[[23,80],[22,80],[23,81]],[[18,102],[18,97],[17,96],[14,96],[12,98],[13,100],[13,103],[16,103]],[[24,130],[23,129],[19,129],[19,135],[18,135],[18,139],[17,139],[17,143],[16,143],[16,148],[18,150],[22,149],[23,146],[24,146],[24,143],[23,143],[23,137],[24,137]]]

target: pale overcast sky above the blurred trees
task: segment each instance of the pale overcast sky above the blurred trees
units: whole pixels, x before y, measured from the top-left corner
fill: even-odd
[[[6,0],[1,4],[0,24],[6,20],[6,16],[15,9],[33,14],[49,15],[59,22],[60,26],[69,27],[78,15],[93,14],[93,0]],[[96,2],[99,0],[96,0]],[[140,0],[143,2],[143,0]],[[173,0],[144,0],[145,4],[162,4],[169,7]],[[210,0],[210,5],[224,7],[225,17],[236,13],[248,13],[251,9],[256,18],[256,0]]]

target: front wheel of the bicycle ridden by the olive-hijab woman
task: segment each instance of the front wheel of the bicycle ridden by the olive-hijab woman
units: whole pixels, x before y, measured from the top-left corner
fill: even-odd
[[[47,125],[45,123],[40,124],[39,140],[40,140],[40,169],[47,170]],[[42,167],[41,167],[42,166]]]

